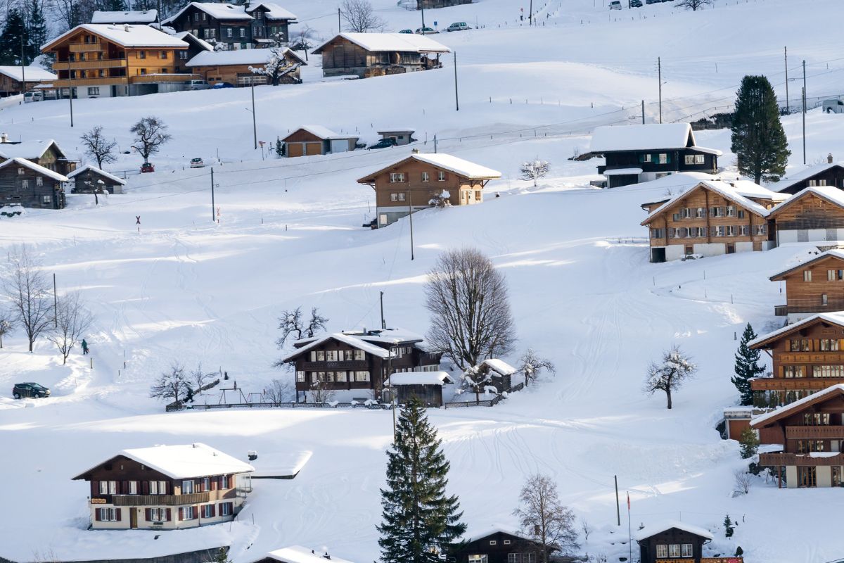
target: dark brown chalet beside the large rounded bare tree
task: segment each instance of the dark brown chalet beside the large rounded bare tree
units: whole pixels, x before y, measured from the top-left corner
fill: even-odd
[[[429,351],[425,338],[400,328],[326,334],[293,346],[281,361],[295,365],[297,401],[312,400],[316,389],[380,399],[393,373],[440,370],[441,355]]]

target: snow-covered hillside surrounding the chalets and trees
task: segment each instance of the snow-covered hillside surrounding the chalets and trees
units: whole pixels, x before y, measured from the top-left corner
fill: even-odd
[[[436,36],[457,51],[459,112],[449,57],[437,71],[344,83],[321,82],[311,57],[306,84],[256,89],[261,140],[304,123],[357,131],[366,142],[379,128],[409,126],[421,150],[433,149],[436,134],[441,152],[502,172],[482,205],[414,215],[414,261],[407,221],[361,228],[374,198],[355,183],[408,147],[262,160],[252,149],[247,89],[78,100],[73,128],[64,102],[6,102],[3,132],[55,138],[72,157],[83,157],[78,136],[95,125],[126,149],[128,127],[147,115],[168,123],[173,141],[154,157],[154,174],[129,176],[126,195],[99,207],[89,196],[69,196],[65,210],[30,210],[0,222],[3,250],[29,245],[46,272],[57,274],[59,291],[81,291],[95,313],[93,369],[75,354],[62,366],[45,341],[30,355],[22,334],[3,338],[0,388],[38,381],[52,397],[0,398],[7,460],[0,479],[14,484],[4,496],[14,510],[0,515],[0,557],[105,559],[230,544],[235,562],[248,563],[301,544],[376,560],[390,413],[164,414],[148,398],[149,384],[174,360],[189,368],[202,361],[260,392],[285,376],[272,367],[281,354],[277,317],[295,306],[318,306],[332,331],[371,328],[380,322],[384,291],[387,323],[424,333],[425,272],[439,252],[461,244],[479,247],[506,274],[519,352],[531,346],[558,367],[555,378],[495,408],[430,411],[469,528],[513,524],[522,480],[539,471],[555,478],[565,503],[596,529],[582,553],[618,560],[629,546],[623,512],[615,525],[617,475],[622,511],[630,492],[634,533],[640,523],[679,518],[713,531],[712,554],[732,555],[741,545],[749,562],[844,557],[844,490],[776,490],[760,479],[749,495],[733,498],[733,469],[743,462],[738,445],[715,430],[721,409],[737,400],[729,381],[735,333],[747,322],[757,332],[779,322],[773,306],[783,296],[767,278],[812,247],[650,264],[640,204],[687,184],[664,178],[602,191],[588,187],[597,161],[567,160],[587,149],[593,127],[641,119],[642,99],[647,119],[657,118],[657,57],[667,122],[729,106],[748,73],[765,73],[784,97],[784,45],[789,78],[806,60],[810,97],[844,93],[844,40],[840,18],[832,17],[841,15],[841,2],[717,0],[695,14],[669,4],[608,14],[601,3],[551,0],[539,8],[544,26],[533,30],[514,21],[516,4],[506,0],[426,11],[426,23],[435,19],[441,29],[476,19],[485,26]],[[284,5],[323,37],[333,32],[333,3]],[[419,14],[392,0],[376,5],[389,30],[419,26]],[[795,103],[801,86],[789,85]],[[800,116],[784,125],[796,171],[803,162]],[[828,153],[844,158],[842,126],[844,116],[809,112],[810,164]],[[734,164],[728,132],[696,136],[724,151],[721,165]],[[219,225],[211,222],[208,168],[183,169],[195,156],[215,163]],[[537,188],[518,178],[519,164],[535,156],[552,164]],[[139,164],[137,155],[122,155],[111,170]],[[700,371],[668,411],[664,398],[643,395],[641,384],[648,362],[671,344],[694,356]],[[127,447],[191,441],[235,457],[247,450],[313,455],[294,480],[256,482],[233,525],[159,539],[145,531],[85,530],[88,489],[73,475]],[[738,522],[732,539],[721,527],[727,514]]]

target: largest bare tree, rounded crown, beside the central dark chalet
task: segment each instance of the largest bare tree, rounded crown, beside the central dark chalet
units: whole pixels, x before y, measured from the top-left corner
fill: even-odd
[[[507,355],[516,340],[507,284],[475,248],[443,252],[425,283],[431,347],[463,371],[480,360]]]

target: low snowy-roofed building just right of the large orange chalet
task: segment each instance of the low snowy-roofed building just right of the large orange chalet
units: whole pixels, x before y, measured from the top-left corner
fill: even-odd
[[[242,49],[241,51],[203,51],[185,66],[206,82],[225,82],[234,86],[252,84],[300,84],[300,68],[307,63],[287,47],[282,49],[284,62],[275,75],[253,73],[252,68],[265,70],[273,62],[275,49]]]

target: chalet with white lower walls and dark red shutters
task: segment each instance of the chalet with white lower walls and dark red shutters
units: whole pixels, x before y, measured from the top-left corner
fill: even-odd
[[[172,530],[233,520],[252,471],[195,443],[123,450],[73,479],[90,484],[90,528]]]

